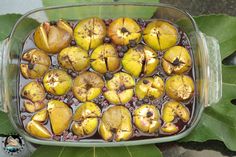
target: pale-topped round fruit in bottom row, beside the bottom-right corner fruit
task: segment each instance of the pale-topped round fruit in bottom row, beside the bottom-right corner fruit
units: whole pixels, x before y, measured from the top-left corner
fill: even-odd
[[[148,134],[157,132],[161,125],[158,110],[149,104],[143,104],[134,110],[133,121],[139,130]]]

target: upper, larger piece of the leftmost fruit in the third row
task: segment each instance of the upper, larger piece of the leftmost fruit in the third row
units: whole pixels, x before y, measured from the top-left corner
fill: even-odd
[[[32,81],[23,87],[21,96],[32,102],[40,102],[45,98],[45,91],[41,83]]]

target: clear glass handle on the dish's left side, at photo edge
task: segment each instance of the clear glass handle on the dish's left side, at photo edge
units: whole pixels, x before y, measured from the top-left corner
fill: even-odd
[[[6,53],[8,49],[9,38],[0,41],[0,111],[7,112],[7,103],[5,102],[5,77],[6,74]]]

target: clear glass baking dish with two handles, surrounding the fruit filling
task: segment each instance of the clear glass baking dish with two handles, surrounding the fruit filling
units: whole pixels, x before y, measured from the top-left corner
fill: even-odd
[[[100,18],[157,18],[176,23],[187,33],[193,53],[195,79],[195,109],[188,128],[176,135],[151,139],[105,142],[98,139],[83,139],[78,142],[47,141],[32,137],[23,128],[19,117],[19,62],[22,45],[27,35],[41,22],[58,20],[78,20],[97,16]],[[28,18],[38,21],[31,24]],[[27,25],[27,28],[25,26]],[[27,31],[25,31],[27,29]],[[24,31],[22,31],[24,30]],[[176,7],[161,3],[78,3],[32,10],[23,15],[15,24],[9,37],[0,44],[0,107],[8,112],[11,123],[27,141],[57,146],[107,147],[163,143],[179,140],[187,136],[197,125],[205,107],[216,104],[222,95],[221,56],[216,39],[201,33],[191,15]]]

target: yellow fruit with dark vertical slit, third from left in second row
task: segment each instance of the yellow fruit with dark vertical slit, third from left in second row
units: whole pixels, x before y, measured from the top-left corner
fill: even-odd
[[[99,73],[114,72],[120,67],[120,59],[111,44],[97,47],[90,56],[92,68]]]

